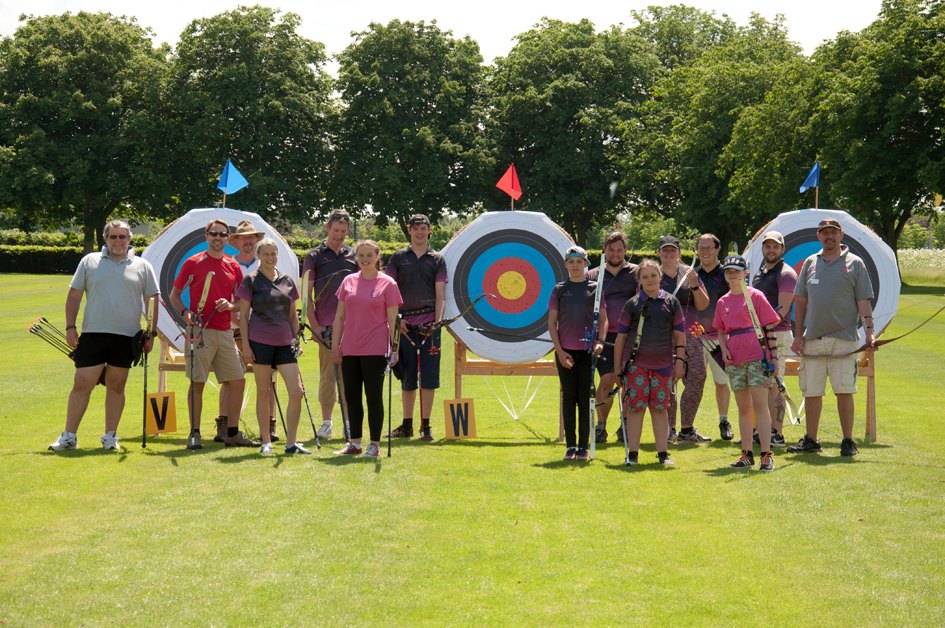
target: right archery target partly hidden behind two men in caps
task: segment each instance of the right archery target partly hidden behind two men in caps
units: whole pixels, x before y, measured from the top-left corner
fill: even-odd
[[[899,307],[899,291],[902,281],[896,254],[888,244],[869,227],[845,211],[835,209],[801,209],[780,214],[759,229],[745,249],[751,276],[764,264],[761,238],[767,231],[780,231],[784,236],[784,261],[800,274],[804,260],[820,252],[817,225],[831,218],[843,226],[843,240],[850,252],[863,260],[873,284],[873,323],[879,336],[896,315]],[[860,342],[865,341],[866,332],[859,329]]]

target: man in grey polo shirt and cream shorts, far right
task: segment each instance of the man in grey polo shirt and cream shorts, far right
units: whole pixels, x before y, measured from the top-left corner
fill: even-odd
[[[860,320],[866,346],[873,346],[873,285],[863,260],[850,253],[843,227],[833,219],[821,220],[817,239],[823,247],[804,260],[794,289],[794,343],[801,356],[798,380],[807,410],[807,434],[789,452],[821,450],[817,440],[827,378],[837,397],[843,441],[840,455],[855,456],[853,394],[856,393],[856,355]]]

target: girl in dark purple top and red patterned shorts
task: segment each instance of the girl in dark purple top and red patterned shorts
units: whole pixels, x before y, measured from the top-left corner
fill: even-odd
[[[626,365],[614,364],[613,375],[614,381],[625,382],[628,466],[638,462],[643,413],[647,408],[653,422],[657,459],[662,465],[673,464],[667,451],[669,404],[672,380],[682,379],[686,370],[686,333],[679,300],[660,288],[662,274],[655,260],[640,262],[637,268],[640,291],[624,305],[617,325],[614,355],[622,356],[628,343],[631,347],[630,359]]]

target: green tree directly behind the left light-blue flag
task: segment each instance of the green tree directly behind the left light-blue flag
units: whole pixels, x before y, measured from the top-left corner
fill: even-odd
[[[227,159],[249,181],[228,205],[288,220],[324,210],[331,80],[299,21],[240,7],[182,33],[166,96],[175,211],[217,205]]]

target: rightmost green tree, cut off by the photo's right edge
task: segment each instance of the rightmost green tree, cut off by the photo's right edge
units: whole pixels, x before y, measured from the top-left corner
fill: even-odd
[[[895,248],[945,189],[945,6],[885,0],[814,58],[831,78],[812,122],[829,198]]]

